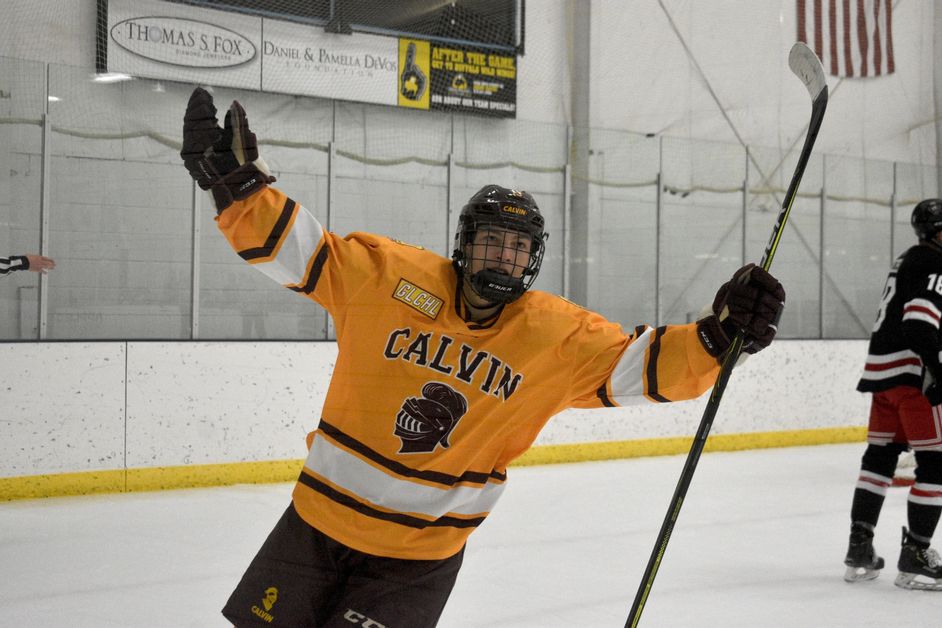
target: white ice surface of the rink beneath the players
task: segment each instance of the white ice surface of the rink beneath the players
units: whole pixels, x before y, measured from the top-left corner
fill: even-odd
[[[884,573],[841,578],[862,453],[863,444],[704,454],[641,625],[942,626],[942,592],[893,586],[904,488],[890,490],[877,530]],[[683,458],[511,469],[440,626],[624,625]],[[2,503],[0,626],[227,626],[219,608],[290,490]]]

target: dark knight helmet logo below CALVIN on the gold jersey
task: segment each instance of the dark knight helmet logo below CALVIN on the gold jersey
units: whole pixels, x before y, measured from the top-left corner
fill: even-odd
[[[439,382],[422,386],[421,397],[409,397],[396,414],[394,433],[402,442],[401,454],[431,453],[438,445],[451,446],[448,437],[468,411],[464,395]]]

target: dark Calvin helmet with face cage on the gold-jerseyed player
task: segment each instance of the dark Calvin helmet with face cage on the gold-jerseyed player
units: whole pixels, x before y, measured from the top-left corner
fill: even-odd
[[[549,237],[543,226],[540,208],[529,192],[485,185],[468,200],[458,218],[452,259],[459,277],[467,276],[471,289],[491,303],[510,303],[520,298],[540,272],[546,238]],[[474,242],[475,233],[482,227],[519,231],[530,237],[530,258],[521,277],[488,269],[469,274],[468,245]]]

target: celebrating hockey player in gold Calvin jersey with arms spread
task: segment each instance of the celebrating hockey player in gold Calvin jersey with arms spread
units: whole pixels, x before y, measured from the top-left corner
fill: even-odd
[[[752,265],[697,323],[625,333],[529,290],[547,236],[526,192],[477,192],[448,260],[325,231],[270,186],[237,102],[220,127],[197,88],[183,135],[184,163],[235,252],[326,308],[337,330],[292,504],[223,611],[237,626],[434,626],[468,536],[550,417],[697,397],[736,331],[750,352],[775,335],[785,293]]]

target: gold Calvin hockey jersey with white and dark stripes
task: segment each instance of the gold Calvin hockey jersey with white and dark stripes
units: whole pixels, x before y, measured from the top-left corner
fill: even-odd
[[[468,323],[449,260],[366,233],[340,238],[274,188],[217,220],[243,259],[333,317],[339,354],[293,500],[362,552],[451,556],[554,414],[690,399],[716,379],[692,324],[628,335],[535,290]]]

